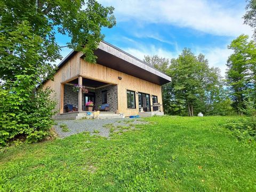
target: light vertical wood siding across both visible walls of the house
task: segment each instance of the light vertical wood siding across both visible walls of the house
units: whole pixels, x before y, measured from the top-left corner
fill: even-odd
[[[136,108],[127,109],[126,90],[156,95],[158,102],[163,104],[160,85],[150,83],[99,64],[88,63],[84,59],[81,59],[81,55],[81,52],[76,53],[74,57],[57,71],[54,75],[54,81],[49,80],[44,83],[44,87],[49,86],[55,91],[55,98],[58,101],[57,109],[60,109],[60,113],[63,113],[63,84],[69,82],[71,79],[78,78],[78,76],[116,84],[118,110],[119,113],[123,113],[125,116],[138,115],[139,113],[138,94],[135,94]],[[119,80],[118,77],[122,77],[122,79]],[[150,97],[150,105],[152,105],[152,97]],[[151,111],[152,110],[153,108],[151,107]],[[163,111],[163,106],[161,106],[161,111]]]

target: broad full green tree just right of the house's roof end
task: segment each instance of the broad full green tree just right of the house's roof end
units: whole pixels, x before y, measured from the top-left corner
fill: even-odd
[[[203,54],[197,57],[184,49],[177,59],[171,60],[171,86],[177,103],[186,106],[189,116],[195,113],[207,113],[221,88],[218,68],[210,68]],[[180,106],[180,104],[178,104]]]

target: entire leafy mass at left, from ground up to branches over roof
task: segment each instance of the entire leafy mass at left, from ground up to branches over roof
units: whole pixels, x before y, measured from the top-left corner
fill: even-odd
[[[0,145],[19,137],[34,142],[49,134],[53,93],[37,86],[52,77],[51,62],[61,57],[55,33],[68,35],[67,46],[94,62],[101,28],[115,25],[113,10],[94,0],[0,2]]]

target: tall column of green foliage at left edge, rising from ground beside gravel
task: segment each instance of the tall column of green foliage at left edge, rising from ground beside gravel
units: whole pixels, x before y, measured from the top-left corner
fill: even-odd
[[[16,139],[42,140],[51,129],[56,105],[50,89],[36,89],[50,71],[41,57],[47,51],[41,47],[43,39],[33,34],[28,22],[15,31],[1,27],[0,39],[0,69],[5,71],[0,73],[0,145]]]

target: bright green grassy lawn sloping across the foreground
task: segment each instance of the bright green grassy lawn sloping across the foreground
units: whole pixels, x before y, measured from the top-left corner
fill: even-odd
[[[152,117],[110,139],[88,133],[0,153],[0,191],[256,191],[256,145],[235,117]]]

